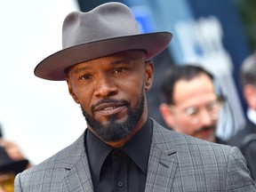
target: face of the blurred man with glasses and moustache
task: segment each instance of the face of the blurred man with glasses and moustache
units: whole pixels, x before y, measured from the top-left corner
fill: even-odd
[[[179,80],[174,85],[173,100],[166,123],[176,132],[214,142],[220,102],[211,78],[202,74],[189,81]]]

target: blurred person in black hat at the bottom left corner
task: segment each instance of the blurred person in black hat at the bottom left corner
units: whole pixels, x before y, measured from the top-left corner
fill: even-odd
[[[0,147],[0,192],[14,191],[14,178],[28,168],[28,159],[14,160]]]

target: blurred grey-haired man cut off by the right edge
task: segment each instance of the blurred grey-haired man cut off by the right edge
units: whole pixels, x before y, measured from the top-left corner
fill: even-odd
[[[256,52],[242,63],[240,83],[243,88],[244,100],[248,105],[246,124],[243,129],[228,141],[228,145],[240,148],[247,159],[254,180],[256,180]],[[253,142],[252,139],[254,140]]]

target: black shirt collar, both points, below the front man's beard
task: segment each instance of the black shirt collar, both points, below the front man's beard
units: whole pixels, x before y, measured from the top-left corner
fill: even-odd
[[[146,124],[129,140],[123,148],[124,153],[140,167],[146,175],[148,171],[148,156],[153,132],[152,121],[148,119]],[[108,154],[115,148],[95,136],[89,129],[85,135],[85,148],[88,153],[92,174],[100,180],[100,170]]]

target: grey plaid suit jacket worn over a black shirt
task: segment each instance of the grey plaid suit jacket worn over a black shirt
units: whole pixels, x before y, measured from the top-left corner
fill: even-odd
[[[154,121],[145,191],[256,191],[236,147],[172,132]],[[84,134],[43,163],[17,175],[16,192],[92,192]]]

